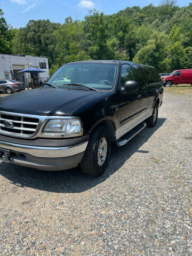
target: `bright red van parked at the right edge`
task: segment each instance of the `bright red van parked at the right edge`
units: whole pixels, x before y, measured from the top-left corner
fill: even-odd
[[[192,69],[174,70],[169,76],[163,76],[161,79],[166,87],[172,84],[191,84],[192,86]]]

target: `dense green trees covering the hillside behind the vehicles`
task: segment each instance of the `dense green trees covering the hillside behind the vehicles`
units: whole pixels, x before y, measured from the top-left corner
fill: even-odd
[[[51,73],[63,63],[91,59],[130,60],[159,72],[192,68],[192,3],[163,0],[112,15],[94,10],[82,21],[30,20],[20,29],[7,25],[1,9],[0,16],[0,53],[46,56]]]

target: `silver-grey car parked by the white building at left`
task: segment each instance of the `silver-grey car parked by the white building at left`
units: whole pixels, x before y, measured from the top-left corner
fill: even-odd
[[[13,92],[20,92],[25,90],[25,84],[12,80],[12,79],[0,79],[0,91],[11,94]]]

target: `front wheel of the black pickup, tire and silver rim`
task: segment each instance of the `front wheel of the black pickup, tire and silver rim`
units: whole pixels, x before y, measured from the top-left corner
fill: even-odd
[[[91,134],[90,141],[80,163],[83,173],[92,177],[98,177],[105,172],[110,158],[110,148],[111,139],[107,128],[100,126],[95,129]]]

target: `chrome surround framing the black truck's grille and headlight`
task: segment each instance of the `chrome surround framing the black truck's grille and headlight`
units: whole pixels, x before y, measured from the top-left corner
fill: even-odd
[[[40,116],[40,115],[13,113],[13,112],[7,112],[7,111],[0,111],[0,116],[1,115],[31,117],[31,118],[39,119],[38,125],[36,127],[36,131],[33,134],[28,135],[28,134],[20,134],[20,133],[17,134],[17,133],[14,133],[14,132],[12,133],[12,132],[0,131],[0,134],[5,134],[5,135],[15,137],[15,138],[29,138],[29,139],[34,139],[34,138],[37,138],[37,137],[43,137],[43,138],[73,138],[73,137],[78,137],[78,136],[83,135],[83,123],[82,123],[81,118],[79,118],[79,117],[74,117],[74,116]],[[43,128],[44,128],[46,122],[51,120],[51,119],[74,119],[74,118],[79,119],[79,121],[82,124],[82,130],[79,133],[73,133],[73,134],[44,134],[43,133]]]

